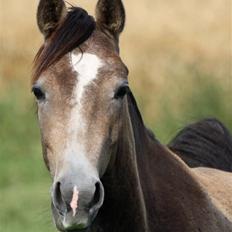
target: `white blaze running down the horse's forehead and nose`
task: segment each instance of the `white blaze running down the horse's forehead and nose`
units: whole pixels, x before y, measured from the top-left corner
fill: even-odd
[[[85,137],[86,118],[83,114],[82,98],[85,89],[88,85],[94,82],[98,76],[99,69],[103,66],[103,62],[96,55],[83,53],[75,55],[71,53],[71,65],[77,72],[76,86],[74,87],[73,96],[71,99],[71,114],[67,124],[67,142],[65,145],[65,159],[68,163],[75,167],[89,170],[91,175],[91,164],[86,157],[85,142],[88,138]]]

